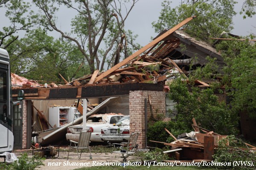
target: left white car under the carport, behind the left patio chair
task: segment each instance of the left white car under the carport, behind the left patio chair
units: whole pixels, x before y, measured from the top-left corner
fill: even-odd
[[[119,119],[121,119],[124,115],[121,114],[96,114],[92,115],[87,119],[86,127],[89,128],[89,130],[92,132],[90,141],[91,142],[104,142],[101,140],[101,129],[103,127],[113,125],[116,123]],[[83,125],[73,125],[67,128],[67,134],[66,139],[73,140],[78,142],[79,134],[81,130],[83,129]]]

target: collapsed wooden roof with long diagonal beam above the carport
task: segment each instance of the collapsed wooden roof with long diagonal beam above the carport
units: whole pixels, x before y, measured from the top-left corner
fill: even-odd
[[[112,85],[109,87],[117,88],[116,90],[119,91],[122,91],[122,89],[127,87],[129,87],[129,89],[125,90],[147,90],[149,87],[150,90],[154,90],[154,88],[157,89],[158,86],[154,86],[153,84],[165,85],[167,79],[178,77],[181,74],[185,75],[186,77],[186,73],[190,69],[189,65],[192,65],[192,68],[203,66],[207,62],[207,56],[216,58],[217,63],[222,65],[223,59],[215,48],[213,48],[207,42],[199,41],[193,37],[190,37],[183,30],[178,30],[193,18],[195,17],[189,17],[170,30],[163,31],[148,45],[145,45],[143,48],[136,51],[134,54],[125,58],[123,61],[114,65],[105,72],[100,73],[99,70],[96,70],[93,74],[85,75],[84,77],[80,77],[72,82],[67,82],[62,77],[66,82],[66,85],[61,86],[60,88],[65,87],[66,90],[58,90],[55,92],[55,94],[52,94],[52,96],[55,97],[56,93],[68,93],[67,87],[74,86],[77,88],[85,86],[87,87],[83,88],[84,91],[83,89],[81,91],[72,90],[72,94],[74,94],[72,97],[74,98],[90,96],[99,97],[102,93],[104,93],[103,96],[107,94],[109,96],[114,93],[113,90],[106,93],[106,87],[101,87],[101,90],[95,90],[94,87],[97,88],[97,85]],[[127,83],[129,85],[127,85]],[[131,85],[133,83],[134,85]],[[135,85],[137,83],[140,85]],[[151,85],[145,85],[148,83],[151,83]],[[201,86],[209,86],[209,84],[199,80],[197,80],[196,83]],[[121,85],[121,87],[116,85]],[[140,86],[140,88],[135,88],[137,86]],[[130,89],[130,87],[132,88]],[[89,90],[89,88],[93,89]],[[156,91],[159,90],[161,89],[157,89]],[[86,95],[88,92],[91,94]],[[95,92],[100,94],[95,96]],[[25,93],[31,93],[30,96],[33,96],[32,93],[36,94],[35,91]],[[47,93],[48,94],[41,96],[40,99],[49,99],[51,95],[49,92]],[[125,93],[127,93],[127,91]],[[70,95],[71,91],[68,94]],[[120,95],[122,94],[116,94],[113,96]],[[39,93],[38,96],[40,96]],[[70,96],[68,97],[70,98]],[[37,98],[34,97],[34,99]]]

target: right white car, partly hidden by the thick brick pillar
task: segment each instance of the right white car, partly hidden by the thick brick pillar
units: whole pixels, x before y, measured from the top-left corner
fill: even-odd
[[[130,116],[123,116],[116,125],[103,127],[101,133],[102,141],[127,142],[130,138]]]

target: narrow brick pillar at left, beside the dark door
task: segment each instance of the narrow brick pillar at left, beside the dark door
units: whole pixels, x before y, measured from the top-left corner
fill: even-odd
[[[26,149],[27,144],[27,101],[23,100],[22,110],[22,149]]]

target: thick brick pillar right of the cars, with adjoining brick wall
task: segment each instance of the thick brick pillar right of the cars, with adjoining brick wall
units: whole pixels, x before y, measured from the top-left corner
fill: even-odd
[[[147,102],[147,120],[150,118],[150,107],[148,95],[151,96],[151,106],[153,116],[166,113],[166,101],[164,91],[130,91],[129,93],[129,111],[130,111],[130,132],[140,132],[137,140],[139,148],[146,147],[145,140],[145,99]]]

